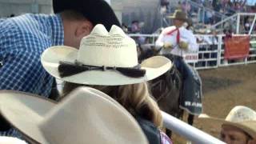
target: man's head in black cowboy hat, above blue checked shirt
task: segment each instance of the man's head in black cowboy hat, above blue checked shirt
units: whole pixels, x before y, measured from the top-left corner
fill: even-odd
[[[62,16],[64,45],[79,47],[81,39],[97,24],[106,30],[121,26],[114,10],[104,0],[53,0],[54,13]]]

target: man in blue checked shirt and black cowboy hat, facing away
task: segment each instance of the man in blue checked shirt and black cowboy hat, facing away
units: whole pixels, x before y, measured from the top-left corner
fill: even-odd
[[[54,0],[53,6],[56,14],[23,14],[0,21],[0,90],[49,97],[54,78],[42,68],[42,51],[63,44],[78,49],[81,38],[98,23],[108,30],[113,24],[120,26],[104,0]],[[4,118],[0,123],[0,135],[20,136]]]

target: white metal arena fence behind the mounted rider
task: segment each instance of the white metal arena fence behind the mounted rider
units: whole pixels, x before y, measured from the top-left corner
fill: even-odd
[[[234,36],[243,36],[244,34],[235,34]],[[158,34],[129,34],[131,38],[146,48],[154,47],[154,42],[158,38]],[[198,62],[190,63],[197,70],[205,70],[218,68],[221,66],[246,65],[256,62],[256,34],[250,35],[250,54],[248,58],[240,60],[224,59],[224,42],[225,35],[195,35],[202,42],[198,43]]]

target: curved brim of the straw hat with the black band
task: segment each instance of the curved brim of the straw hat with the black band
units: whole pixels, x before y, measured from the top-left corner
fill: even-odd
[[[76,58],[78,58],[77,49],[70,46],[53,46],[44,51],[41,62],[45,70],[55,78],[66,82],[102,86],[127,85],[149,81],[166,73],[172,66],[168,58],[155,56],[142,62],[141,69],[146,70],[146,74],[141,78],[130,78],[114,70],[90,70],[61,78],[58,72],[59,62],[74,62]]]

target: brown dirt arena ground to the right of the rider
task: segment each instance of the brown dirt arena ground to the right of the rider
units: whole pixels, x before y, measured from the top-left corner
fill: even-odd
[[[203,112],[226,118],[234,106],[249,106],[256,110],[256,64],[229,66],[212,70],[199,70],[202,78]],[[218,137],[217,123],[194,119],[194,126]],[[175,144],[186,140],[174,134]]]

